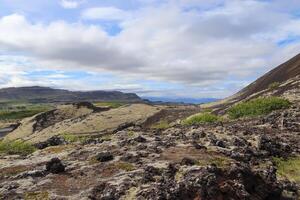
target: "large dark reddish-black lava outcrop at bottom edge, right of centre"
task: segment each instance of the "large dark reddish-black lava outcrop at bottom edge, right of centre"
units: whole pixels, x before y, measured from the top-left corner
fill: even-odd
[[[269,173],[273,174],[274,170]],[[233,165],[230,169],[212,165],[190,169],[180,181],[169,176],[150,183],[149,187],[138,192],[137,199],[280,200],[282,188],[273,178],[261,176],[248,165]]]

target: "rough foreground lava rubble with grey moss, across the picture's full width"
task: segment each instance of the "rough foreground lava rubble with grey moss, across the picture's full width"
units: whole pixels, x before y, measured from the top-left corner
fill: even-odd
[[[216,124],[125,127],[84,142],[56,137],[27,157],[1,156],[0,199],[298,199],[299,172],[288,179],[276,161],[299,158],[299,122],[294,106]]]

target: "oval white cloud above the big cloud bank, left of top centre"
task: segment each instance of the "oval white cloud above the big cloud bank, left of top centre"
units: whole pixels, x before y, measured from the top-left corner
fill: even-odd
[[[129,13],[115,7],[95,7],[84,10],[81,17],[89,20],[126,20]]]

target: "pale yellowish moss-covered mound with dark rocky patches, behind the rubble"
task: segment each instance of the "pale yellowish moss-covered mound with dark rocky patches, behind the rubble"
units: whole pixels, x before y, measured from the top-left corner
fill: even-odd
[[[61,105],[55,110],[22,120],[4,140],[22,139],[36,143],[59,134],[99,135],[142,123],[160,110],[159,106],[145,104],[125,105],[117,109],[97,108],[91,103]]]

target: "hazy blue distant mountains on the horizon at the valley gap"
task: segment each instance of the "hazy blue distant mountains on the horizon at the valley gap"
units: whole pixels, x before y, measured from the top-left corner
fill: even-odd
[[[186,104],[201,104],[217,101],[216,98],[170,98],[170,97],[145,97],[152,102],[164,103],[186,103]]]

